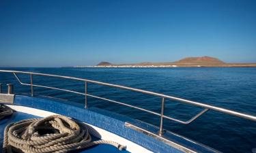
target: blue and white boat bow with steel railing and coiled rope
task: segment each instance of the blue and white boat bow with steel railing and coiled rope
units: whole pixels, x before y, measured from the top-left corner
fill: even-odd
[[[199,103],[197,101],[190,101],[187,99],[163,95],[138,88],[130,88],[117,84],[109,84],[83,78],[74,78],[70,76],[46,73],[12,70],[0,70],[0,73],[8,73],[10,78],[13,76],[16,78],[18,84],[21,86],[29,86],[30,88],[29,95],[16,95],[14,92],[14,85],[7,84],[8,92],[3,93],[3,84],[1,84],[0,78],[0,146],[3,148],[0,150],[0,152],[8,152],[8,149],[13,149],[14,152],[17,150],[17,152],[219,152],[218,150],[205,146],[201,143],[198,143],[197,141],[193,141],[183,137],[182,135],[177,135],[176,133],[165,130],[163,124],[164,120],[172,120],[174,122],[179,122],[180,124],[190,124],[205,114],[205,112],[215,111],[256,122],[256,116],[250,114],[244,114],[230,109],[216,107],[214,105],[208,105],[205,103]],[[23,82],[19,75],[28,75],[30,82]],[[35,79],[33,79],[33,76],[35,75],[40,75],[43,78],[59,78],[83,82],[85,90],[84,92],[77,92],[64,88],[45,86],[43,84],[35,84]],[[37,80],[36,82],[40,82],[40,80]],[[161,99],[161,101],[159,101],[161,110],[160,112],[152,112],[149,109],[138,107],[136,105],[130,105],[128,103],[122,103],[120,101],[114,101],[104,97],[92,95],[87,92],[88,84],[99,84],[101,86],[121,88],[133,92],[140,92],[145,95],[159,97]],[[62,101],[60,99],[35,95],[35,87],[44,88],[46,90],[61,90],[63,92],[71,92],[76,95],[82,95],[85,97],[85,101],[81,102],[84,103],[84,105],[81,107],[81,105],[74,105],[73,103],[69,103],[69,101]],[[123,107],[139,109],[142,112],[153,114],[156,116],[156,118],[160,118],[159,126],[154,126],[146,122],[134,120],[127,116],[108,112],[103,109],[88,107],[88,97],[109,101],[110,103],[116,103]],[[184,121],[177,118],[171,118],[170,116],[165,115],[165,101],[167,99],[171,99],[172,101],[177,101],[187,105],[193,105],[195,107],[200,107],[202,110],[190,118],[190,120]],[[48,128],[48,130],[51,132],[47,132],[46,127],[39,127],[45,120],[47,121],[47,124],[51,126],[51,128]],[[30,124],[27,124],[27,122]],[[66,138],[66,141],[58,142],[55,143],[55,145],[50,146],[49,144],[52,142],[48,141],[48,137],[53,136],[53,133],[55,133],[55,135],[64,135],[65,137],[69,137],[66,134],[68,132],[65,132],[65,128],[66,131],[74,129],[72,128],[72,125],[69,124],[70,122],[77,123],[77,125],[85,128],[84,131],[88,131],[88,135],[91,135],[91,139],[86,139],[87,143],[85,143],[85,141],[81,142],[79,140],[78,143],[83,143],[83,146],[76,145],[74,147],[75,150],[63,150],[63,147],[70,146],[70,143],[66,142],[68,141]],[[56,125],[57,123],[58,125]],[[35,124],[37,126],[35,126]],[[20,125],[20,129],[15,130],[17,127],[13,126],[17,125]],[[44,126],[46,126],[46,124],[44,124]],[[65,126],[64,130],[60,131],[58,129],[59,126]],[[35,128],[32,129],[31,127]],[[54,130],[53,127],[55,128]],[[28,133],[31,133],[31,131],[36,132],[30,136],[26,136],[29,135]],[[86,134],[83,133],[83,135]],[[88,135],[86,137],[89,137]],[[59,141],[59,139],[64,139],[63,137],[58,137],[56,139]],[[47,138],[47,141],[44,138]],[[42,141],[35,142],[35,139],[43,139],[42,141],[46,141],[46,143]],[[25,148],[24,143],[28,143],[27,148]],[[14,146],[13,144],[18,145]],[[28,151],[31,148],[33,150]],[[60,149],[50,150],[51,148]],[[46,149],[49,150],[47,151]]]

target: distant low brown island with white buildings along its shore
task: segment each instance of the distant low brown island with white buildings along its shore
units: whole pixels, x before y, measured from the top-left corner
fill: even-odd
[[[100,62],[95,66],[75,66],[75,67],[256,67],[256,63],[225,63],[218,58],[210,56],[186,57],[179,61],[169,63],[133,63],[133,64],[113,64]]]

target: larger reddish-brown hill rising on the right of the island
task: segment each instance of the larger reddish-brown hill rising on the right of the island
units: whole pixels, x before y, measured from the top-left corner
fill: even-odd
[[[175,63],[180,64],[224,64],[223,61],[218,58],[210,57],[210,56],[202,56],[202,57],[187,57],[183,58],[180,61],[176,61]]]

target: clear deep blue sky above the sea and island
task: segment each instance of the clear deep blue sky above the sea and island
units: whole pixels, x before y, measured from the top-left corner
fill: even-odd
[[[0,1],[0,65],[256,63],[256,1]]]

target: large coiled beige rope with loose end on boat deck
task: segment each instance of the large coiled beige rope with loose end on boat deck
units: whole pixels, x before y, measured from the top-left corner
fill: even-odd
[[[84,124],[66,116],[48,116],[21,120],[6,126],[3,152],[70,152],[106,143],[123,150],[125,146],[114,141],[91,141]]]

